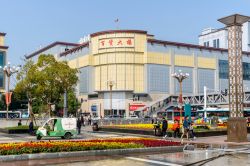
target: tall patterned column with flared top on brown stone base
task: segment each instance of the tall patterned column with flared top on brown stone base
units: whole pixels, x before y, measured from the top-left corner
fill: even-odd
[[[248,16],[234,14],[219,19],[228,29],[228,65],[229,65],[229,110],[227,141],[247,141],[247,125],[243,114],[243,78],[242,78],[242,30]]]

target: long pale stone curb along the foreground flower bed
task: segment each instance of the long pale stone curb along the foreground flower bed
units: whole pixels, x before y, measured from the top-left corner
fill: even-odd
[[[182,152],[183,146],[7,155],[7,156],[0,156],[0,161],[67,158],[67,157],[81,157],[81,156],[95,156],[95,155],[122,155],[122,154],[131,154],[131,153],[162,152],[162,151],[164,151],[165,153],[166,152]]]

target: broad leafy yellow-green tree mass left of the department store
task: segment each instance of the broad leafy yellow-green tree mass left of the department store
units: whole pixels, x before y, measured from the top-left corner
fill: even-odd
[[[40,55],[38,62],[27,61],[17,75],[17,94],[25,93],[31,120],[34,111],[40,113],[47,105],[57,104],[64,93],[73,89],[78,81],[77,69],[71,69],[66,62],[57,61],[53,55]]]

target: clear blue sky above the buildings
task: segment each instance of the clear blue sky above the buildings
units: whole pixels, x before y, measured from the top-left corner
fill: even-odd
[[[248,0],[0,0],[0,32],[6,32],[12,64],[54,41],[78,42],[102,30],[147,30],[157,39],[198,43],[206,27],[223,27],[217,19],[250,15]]]

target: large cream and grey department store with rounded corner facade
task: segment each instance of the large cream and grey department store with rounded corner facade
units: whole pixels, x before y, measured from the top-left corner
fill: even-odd
[[[79,69],[77,95],[81,111],[105,116],[129,116],[136,110],[152,111],[152,105],[178,95],[179,83],[171,76],[189,73],[184,95],[228,87],[228,50],[158,40],[142,30],[110,30],[93,33],[82,44],[55,42],[27,56],[53,54]],[[250,87],[250,52],[243,52],[245,88]],[[110,81],[113,82],[110,100]],[[112,101],[112,104],[110,102]],[[112,107],[112,111],[110,110]]]

